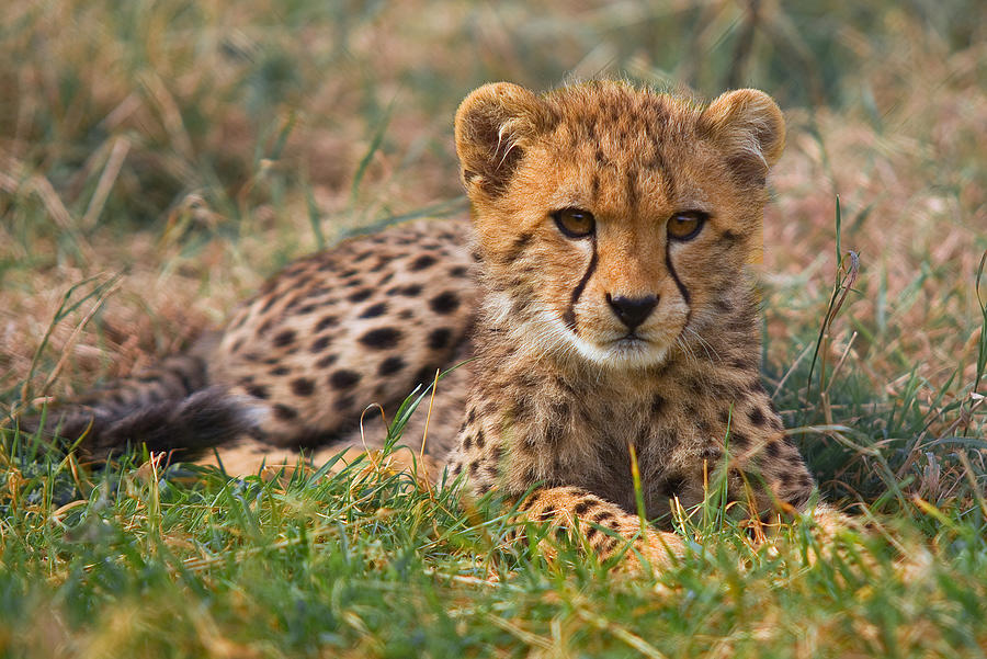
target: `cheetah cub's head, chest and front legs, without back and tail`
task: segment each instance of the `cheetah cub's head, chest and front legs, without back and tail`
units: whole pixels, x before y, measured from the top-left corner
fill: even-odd
[[[483,295],[452,474],[537,487],[526,514],[581,520],[604,557],[634,538],[659,565],[682,542],[640,533],[632,451],[649,518],[701,502],[727,450],[729,497],[804,507],[813,479],[761,386],[745,273],[784,146],[771,98],[489,84],[455,132]]]

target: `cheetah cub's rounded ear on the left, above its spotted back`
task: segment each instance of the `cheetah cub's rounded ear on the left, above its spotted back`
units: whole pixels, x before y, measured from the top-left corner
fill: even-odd
[[[500,196],[530,140],[552,125],[548,106],[510,82],[485,84],[456,112],[456,152],[470,198]]]

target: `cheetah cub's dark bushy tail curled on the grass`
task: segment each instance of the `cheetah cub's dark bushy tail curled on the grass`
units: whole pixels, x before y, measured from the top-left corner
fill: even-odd
[[[206,360],[190,353],[53,408],[43,433],[81,438],[78,450],[93,462],[124,453],[138,439],[148,451],[182,450],[188,459],[251,432],[262,414],[246,397],[211,385]],[[41,423],[41,416],[22,418],[20,429],[34,433]]]

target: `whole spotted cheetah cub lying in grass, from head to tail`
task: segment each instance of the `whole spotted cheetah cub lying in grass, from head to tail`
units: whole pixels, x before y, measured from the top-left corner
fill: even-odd
[[[440,383],[430,452],[475,493],[578,520],[602,558],[683,548],[642,531],[632,455],[649,519],[718,477],[752,514],[803,509],[814,484],[761,386],[745,271],[784,146],[771,98],[496,83],[463,101],[455,140],[472,229],[398,226],[297,262],[217,340],[95,396],[63,434],[92,423],[97,457],[332,452],[368,404],[473,357]]]

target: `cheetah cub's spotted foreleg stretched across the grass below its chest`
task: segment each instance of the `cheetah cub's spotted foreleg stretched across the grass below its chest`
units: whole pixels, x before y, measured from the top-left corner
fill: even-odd
[[[638,556],[653,569],[667,568],[685,550],[684,542],[674,533],[642,526],[638,516],[578,487],[535,490],[521,502],[519,510],[532,521],[548,522],[570,532],[578,520],[582,537],[600,560],[623,554],[624,569],[639,569]]]

